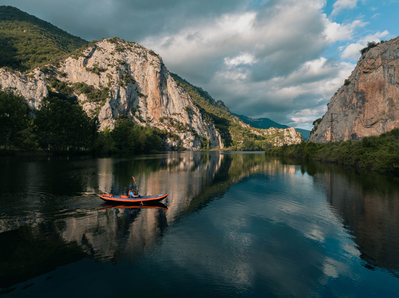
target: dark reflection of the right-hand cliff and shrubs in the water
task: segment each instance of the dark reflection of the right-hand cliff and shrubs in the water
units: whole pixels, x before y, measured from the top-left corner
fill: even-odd
[[[286,164],[298,164],[284,159]],[[324,189],[338,210],[342,225],[352,234],[359,257],[368,269],[388,269],[399,277],[399,192],[397,179],[358,173],[331,164],[301,162],[302,172]]]

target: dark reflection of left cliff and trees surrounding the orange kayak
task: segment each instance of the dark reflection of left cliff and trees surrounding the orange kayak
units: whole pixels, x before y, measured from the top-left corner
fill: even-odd
[[[10,245],[0,248],[0,263],[12,270],[0,273],[0,286],[87,256],[111,262],[138,257],[152,248],[168,224],[223,196],[230,185],[259,170],[264,159],[264,154],[170,152],[119,159],[2,160],[8,171],[2,185],[9,200],[0,203],[0,242]],[[104,208],[88,195],[126,193],[132,174],[140,193],[171,194],[167,212]],[[59,254],[65,257],[59,259]]]

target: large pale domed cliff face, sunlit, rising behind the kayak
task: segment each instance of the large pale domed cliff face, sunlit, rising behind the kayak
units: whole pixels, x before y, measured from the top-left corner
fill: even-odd
[[[124,115],[139,125],[176,133],[189,150],[201,148],[202,136],[210,140],[211,148],[223,148],[213,123],[203,119],[191,97],[176,85],[162,58],[153,51],[120,39],[103,39],[83,55],[67,58],[59,67],[59,72],[67,74],[66,78],[59,79],[110,88],[110,98],[105,104],[80,95],[89,115],[99,110],[101,128],[113,129],[115,118]],[[176,140],[170,140],[170,146],[177,145]]]

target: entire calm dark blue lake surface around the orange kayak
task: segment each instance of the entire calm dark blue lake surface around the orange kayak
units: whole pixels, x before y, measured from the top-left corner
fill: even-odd
[[[263,152],[0,157],[4,297],[397,297],[399,186]],[[109,208],[101,193],[169,193]]]

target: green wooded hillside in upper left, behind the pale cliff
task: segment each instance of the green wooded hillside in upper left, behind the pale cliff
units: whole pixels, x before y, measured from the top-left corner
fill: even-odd
[[[27,71],[79,49],[87,41],[12,6],[0,6],[0,68]]]

